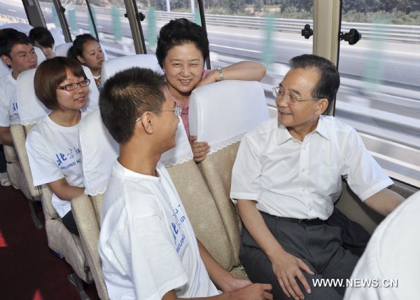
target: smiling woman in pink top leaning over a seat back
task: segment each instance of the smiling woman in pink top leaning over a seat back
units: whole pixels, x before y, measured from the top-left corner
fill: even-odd
[[[156,57],[165,72],[167,88],[172,99],[182,109],[181,118],[190,138],[194,160],[204,161],[209,153],[207,142],[195,142],[190,136],[188,107],[194,88],[223,79],[257,80],[265,75],[264,65],[258,62],[237,62],[223,69],[204,70],[209,57],[209,40],[204,29],[187,19],[171,20],[158,36]]]

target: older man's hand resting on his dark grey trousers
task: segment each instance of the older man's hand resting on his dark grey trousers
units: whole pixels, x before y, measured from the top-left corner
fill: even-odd
[[[307,293],[311,293],[311,287],[309,287],[309,284],[300,269],[309,275],[314,275],[314,272],[311,271],[307,264],[304,264],[302,259],[298,259],[288,252],[283,252],[275,259],[270,260],[272,261],[274,274],[279,280],[280,287],[283,289],[286,296],[292,296],[294,299],[304,299],[304,295],[302,291],[300,291],[299,285],[297,285],[296,278],[302,282]]]

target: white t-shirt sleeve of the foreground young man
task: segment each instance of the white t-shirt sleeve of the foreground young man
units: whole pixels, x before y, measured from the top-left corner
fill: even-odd
[[[153,196],[142,195],[141,201],[150,202],[150,198]],[[108,243],[112,257],[130,278],[136,299],[162,299],[167,292],[188,282],[171,239],[158,214],[135,218],[128,228],[113,231]]]

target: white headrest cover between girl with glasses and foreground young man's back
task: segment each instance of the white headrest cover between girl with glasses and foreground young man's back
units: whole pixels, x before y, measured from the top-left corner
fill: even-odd
[[[80,120],[79,139],[85,193],[92,196],[104,193],[120,147],[102,123],[99,109]]]

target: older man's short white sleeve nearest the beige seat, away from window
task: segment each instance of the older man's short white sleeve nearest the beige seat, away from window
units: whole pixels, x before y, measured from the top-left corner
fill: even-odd
[[[258,201],[261,169],[260,145],[245,135],[232,169],[230,198]]]

